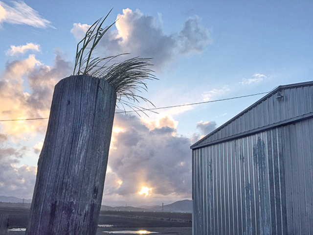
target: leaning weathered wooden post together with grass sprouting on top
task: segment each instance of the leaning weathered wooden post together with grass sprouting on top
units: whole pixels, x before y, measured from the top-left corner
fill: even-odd
[[[55,86],[26,235],[95,235],[116,99],[133,108],[129,101],[146,100],[134,91],[155,78],[147,69],[149,59],[92,57],[113,25],[102,28],[106,18],[78,43],[76,75]]]

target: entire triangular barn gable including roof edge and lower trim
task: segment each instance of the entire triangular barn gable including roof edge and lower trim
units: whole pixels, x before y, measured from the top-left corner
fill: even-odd
[[[279,86],[191,145],[197,149],[313,118],[313,81]]]

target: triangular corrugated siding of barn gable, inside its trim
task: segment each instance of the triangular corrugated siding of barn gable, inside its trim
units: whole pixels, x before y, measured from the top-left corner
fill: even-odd
[[[283,98],[277,99],[277,93]],[[220,140],[249,130],[265,127],[290,118],[299,117],[313,112],[313,85],[291,87],[278,90],[266,99],[251,106],[227,125],[213,132],[198,145]]]

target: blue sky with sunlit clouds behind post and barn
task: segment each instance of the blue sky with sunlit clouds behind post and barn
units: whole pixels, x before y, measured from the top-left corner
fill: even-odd
[[[158,80],[140,95],[157,108],[313,79],[311,0],[1,0],[0,120],[49,117],[78,41],[111,9],[105,24],[118,20],[97,54],[152,58]],[[102,204],[191,199],[190,145],[264,95],[115,114]],[[0,121],[0,195],[32,198],[46,126],[47,119]]]

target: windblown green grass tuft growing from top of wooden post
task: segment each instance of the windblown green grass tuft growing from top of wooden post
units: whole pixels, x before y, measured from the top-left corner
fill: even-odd
[[[151,58],[134,57],[117,61],[128,53],[109,57],[93,57],[92,55],[101,38],[115,24],[113,22],[109,26],[102,27],[111,11],[112,9],[106,17],[101,17],[92,24],[85,37],[77,44],[73,75],[86,74],[107,80],[116,92],[118,103],[116,106],[120,108],[120,105],[124,111],[127,106],[137,112],[142,108],[134,103],[140,100],[151,103],[143,96],[135,94],[142,90],[147,91],[146,81],[156,79],[152,74],[154,71],[149,69],[152,66],[149,63]]]

